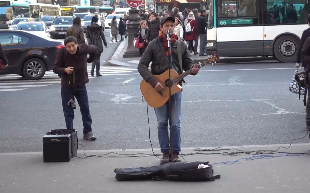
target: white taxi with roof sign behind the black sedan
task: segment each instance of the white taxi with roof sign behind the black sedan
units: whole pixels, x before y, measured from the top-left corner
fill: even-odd
[[[39,36],[47,36],[47,37],[50,37],[50,31],[51,31],[50,29],[47,29],[43,21],[33,23],[21,21],[20,23],[17,24],[15,29],[29,31],[32,33],[36,33]]]

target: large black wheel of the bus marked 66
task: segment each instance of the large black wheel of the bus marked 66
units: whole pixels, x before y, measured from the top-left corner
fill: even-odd
[[[297,37],[291,35],[280,36],[273,45],[273,53],[280,62],[295,62],[299,46],[300,42]]]

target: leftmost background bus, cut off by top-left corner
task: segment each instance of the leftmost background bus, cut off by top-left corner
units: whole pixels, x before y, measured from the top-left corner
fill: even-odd
[[[29,4],[18,1],[0,1],[0,28],[7,29],[16,17],[29,17]]]

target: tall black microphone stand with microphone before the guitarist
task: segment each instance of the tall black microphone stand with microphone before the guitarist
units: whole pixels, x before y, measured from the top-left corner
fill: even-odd
[[[169,50],[169,55],[170,57],[171,56],[171,43],[170,43],[170,30],[168,29],[167,30],[167,41],[168,41],[168,50]],[[171,65],[171,67],[170,67]],[[169,102],[168,102],[168,105],[169,105],[169,130],[170,130],[170,136],[169,136],[169,139],[170,139],[170,161],[172,161],[173,159],[173,140],[172,140],[172,113],[171,113],[171,105],[172,105],[172,102],[171,102],[171,86],[173,85],[171,83],[171,77],[170,77],[170,69],[172,68],[172,64],[170,64],[170,58],[169,58]]]

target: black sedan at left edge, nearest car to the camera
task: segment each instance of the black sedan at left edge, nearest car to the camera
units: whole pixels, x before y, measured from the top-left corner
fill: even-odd
[[[18,74],[30,80],[52,70],[57,50],[64,47],[62,41],[21,30],[0,30],[0,42],[9,61],[0,75]]]

